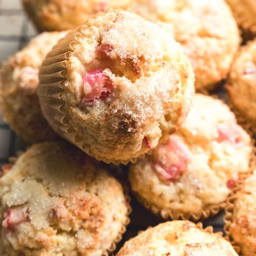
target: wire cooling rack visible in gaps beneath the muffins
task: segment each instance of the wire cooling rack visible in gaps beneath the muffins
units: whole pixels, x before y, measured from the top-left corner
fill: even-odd
[[[0,63],[22,49],[36,34],[22,10],[20,0],[0,0]],[[8,163],[9,157],[15,156],[18,150],[24,148],[21,140],[0,116],[0,165]],[[147,226],[154,226],[163,221],[146,211],[135,199],[132,199],[132,208],[131,224],[123,241],[136,235],[139,230],[145,230]],[[223,215],[220,213],[217,217],[207,220],[204,225],[212,225],[215,231],[223,231]]]

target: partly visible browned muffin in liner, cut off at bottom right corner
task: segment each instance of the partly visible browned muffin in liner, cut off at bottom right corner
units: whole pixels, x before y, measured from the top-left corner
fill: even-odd
[[[243,256],[256,255],[256,171],[230,196],[225,230]]]

